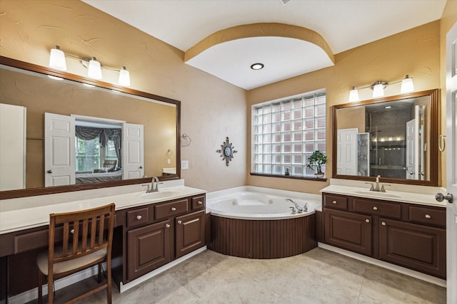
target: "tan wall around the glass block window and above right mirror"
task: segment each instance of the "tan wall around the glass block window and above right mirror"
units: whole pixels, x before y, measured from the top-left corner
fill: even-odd
[[[324,37],[325,38],[325,37]],[[327,154],[326,177],[331,177],[331,106],[348,103],[352,86],[371,85],[376,80],[388,83],[401,80],[406,74],[414,78],[416,91],[440,88],[440,22],[412,28],[411,30],[368,43],[358,48],[338,53],[333,67],[283,80],[248,91],[247,110],[251,105],[285,96],[297,95],[320,88],[327,93]],[[397,95],[400,85],[390,85],[385,94]],[[361,100],[371,99],[371,90],[359,90]],[[247,118],[248,132],[251,130],[250,115]],[[248,137],[248,147],[251,145]],[[248,155],[248,164],[251,159]],[[249,166],[247,167],[249,172]],[[441,173],[441,174],[444,174]],[[274,186],[278,189],[299,190],[318,193],[328,184],[307,180],[291,180],[271,177],[256,177],[247,173],[248,184],[254,186]]]

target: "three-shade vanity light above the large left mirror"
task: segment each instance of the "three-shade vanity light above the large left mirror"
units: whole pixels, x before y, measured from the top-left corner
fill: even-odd
[[[106,66],[102,66],[99,61],[96,60],[95,57],[90,58],[79,58],[78,56],[71,56],[66,55],[64,51],[61,51],[59,46],[56,48],[51,49],[51,53],[49,55],[49,67],[55,68],[56,70],[66,70],[66,61],[65,57],[74,58],[88,68],[88,77],[93,79],[102,79],[101,68],[106,70],[114,70],[119,72],[119,85],[123,85],[125,87],[130,86],[130,73],[129,70],[126,69],[125,66],[121,68],[121,70],[117,70],[114,68],[108,68]]]

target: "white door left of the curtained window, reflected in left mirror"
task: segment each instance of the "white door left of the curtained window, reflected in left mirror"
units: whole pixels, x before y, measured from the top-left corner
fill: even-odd
[[[44,113],[44,183],[75,184],[74,117]]]

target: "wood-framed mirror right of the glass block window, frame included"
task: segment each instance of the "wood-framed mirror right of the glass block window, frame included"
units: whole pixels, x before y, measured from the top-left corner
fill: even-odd
[[[333,106],[333,177],[438,186],[438,90]]]

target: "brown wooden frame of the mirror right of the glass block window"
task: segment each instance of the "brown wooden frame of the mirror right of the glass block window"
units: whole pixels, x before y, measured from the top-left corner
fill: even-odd
[[[390,182],[394,184],[416,184],[423,186],[438,186],[438,106],[439,106],[439,90],[424,90],[416,93],[408,93],[401,95],[388,96],[385,98],[376,98],[371,100],[363,100],[357,103],[345,103],[342,105],[333,105],[332,107],[332,122],[333,122],[333,132],[332,132],[332,177],[334,179],[353,179],[361,181],[370,181],[373,182],[375,177],[359,177],[358,175],[343,175],[336,174],[336,141],[338,134],[338,122],[337,122],[337,110],[352,108],[361,105],[373,105],[375,103],[386,103],[388,101],[402,100],[408,98],[418,98],[423,96],[431,97],[431,111],[430,117],[430,142],[428,144],[428,149],[430,149],[430,180],[414,180],[414,179],[395,179],[389,177],[381,177],[382,182]]]

